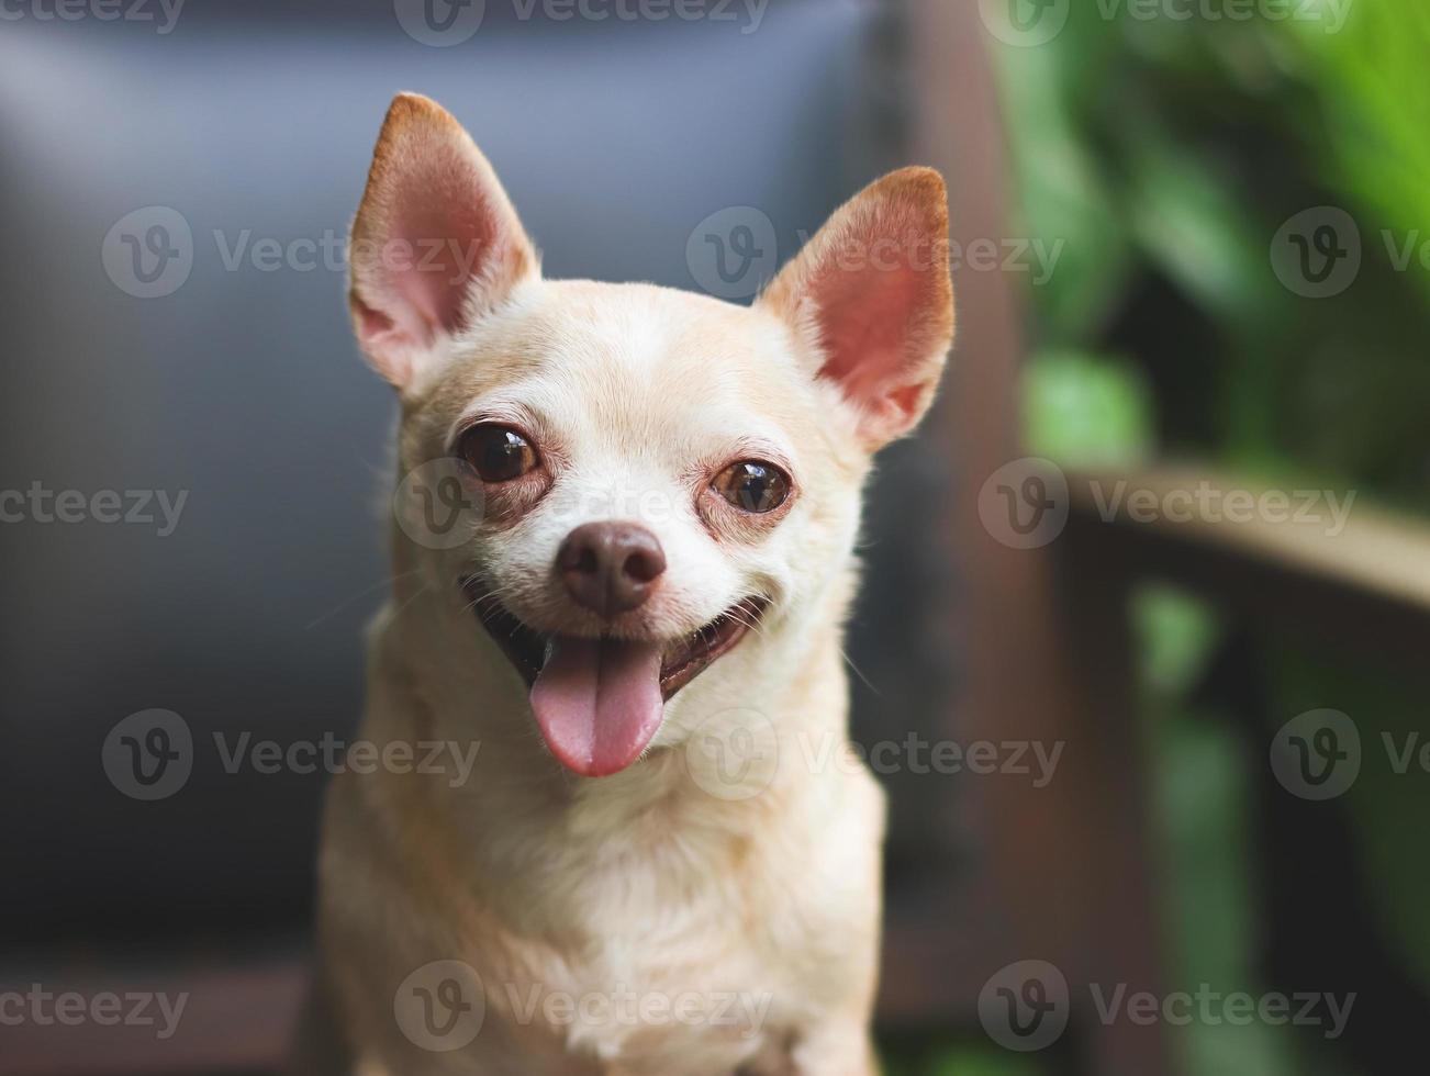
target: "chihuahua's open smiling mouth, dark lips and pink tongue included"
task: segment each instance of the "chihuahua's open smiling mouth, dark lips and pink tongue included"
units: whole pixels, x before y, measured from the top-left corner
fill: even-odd
[[[623,770],[661,727],[665,702],[729,653],[758,623],[764,599],[745,599],[678,639],[581,637],[538,632],[466,579],[478,620],[531,687],[532,713],[552,754],[586,777]]]

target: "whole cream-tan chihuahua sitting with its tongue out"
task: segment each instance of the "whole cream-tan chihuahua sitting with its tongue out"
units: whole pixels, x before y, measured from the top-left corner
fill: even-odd
[[[332,1072],[877,1072],[884,802],[818,760],[861,487],[952,340],[947,229],[905,169],[751,307],[543,280],[458,121],[393,101],[353,323],[400,396],[400,497],[463,509],[438,534],[399,506],[362,736],[479,754],[330,790]]]

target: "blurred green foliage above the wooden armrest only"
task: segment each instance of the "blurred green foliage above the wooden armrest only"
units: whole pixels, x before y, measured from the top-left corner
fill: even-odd
[[[1328,9],[1321,21],[1104,10],[1074,4],[1040,47],[995,46],[1011,227],[1064,241],[1028,290],[1034,440],[1088,426],[1067,387],[1065,409],[1041,406],[1071,353],[1101,400],[1108,380],[1128,384],[1104,420],[1150,426],[1164,454],[1423,510],[1430,6],[1360,0],[1336,33]],[[1356,221],[1361,269],[1341,294],[1307,299],[1277,279],[1271,244],[1318,206]]]

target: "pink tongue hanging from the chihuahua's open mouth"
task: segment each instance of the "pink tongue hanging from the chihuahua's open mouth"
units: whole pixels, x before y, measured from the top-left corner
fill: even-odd
[[[583,777],[618,773],[661,727],[661,649],[615,639],[562,639],[532,687],[546,746]]]

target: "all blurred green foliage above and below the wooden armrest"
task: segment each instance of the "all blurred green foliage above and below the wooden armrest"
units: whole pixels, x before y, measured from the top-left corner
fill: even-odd
[[[1025,292],[1028,452],[1074,466],[1191,456],[1424,513],[1430,3],[1297,0],[1288,10],[1317,17],[1244,21],[1137,19],[1128,4],[1072,0],[1062,31],[1035,47],[988,39],[1014,163],[1010,236],[1061,241],[1051,276]],[[1354,282],[1324,299],[1283,284],[1273,260],[1283,226],[1317,207],[1347,213],[1361,241]],[[1170,972],[1254,992],[1247,819],[1264,744],[1195,702],[1218,614],[1161,587],[1131,612]],[[1373,744],[1424,723],[1416,700],[1364,672],[1263,647],[1267,734],[1323,706],[1351,713]],[[1430,859],[1406,825],[1430,819],[1430,786],[1370,770],[1347,802],[1371,903],[1430,990]],[[1193,1026],[1177,1047],[1191,1076],[1347,1072],[1286,1029]],[[1041,1072],[987,1047],[887,1055],[889,1076]]]

